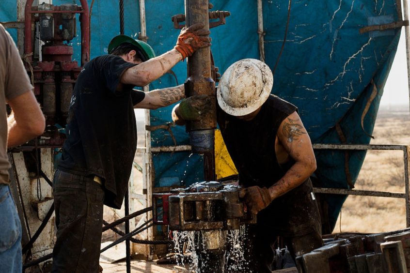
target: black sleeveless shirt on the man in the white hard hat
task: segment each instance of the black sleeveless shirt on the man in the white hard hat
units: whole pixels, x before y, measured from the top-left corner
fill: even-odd
[[[276,159],[275,140],[278,129],[298,108],[281,98],[270,95],[251,121],[239,120],[226,114],[217,104],[217,119],[223,141],[237,167],[239,184],[244,187],[270,187],[278,182],[294,164],[281,165]],[[319,228],[312,182],[276,198],[258,213],[258,224],[272,226],[272,232],[282,236],[299,236]]]

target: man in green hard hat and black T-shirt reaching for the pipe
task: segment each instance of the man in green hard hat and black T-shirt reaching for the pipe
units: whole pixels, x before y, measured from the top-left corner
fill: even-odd
[[[155,57],[148,44],[114,37],[109,55],[84,65],[67,118],[67,139],[53,180],[57,241],[52,272],[98,272],[103,204],[120,209],[137,146],[133,108],[156,109],[182,99],[182,85],[136,91],[209,46],[203,24],[181,30],[175,47]]]

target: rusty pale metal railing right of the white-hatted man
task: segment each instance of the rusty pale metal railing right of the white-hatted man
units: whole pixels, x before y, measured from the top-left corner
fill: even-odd
[[[314,150],[396,150],[403,151],[404,161],[404,186],[405,193],[391,193],[380,191],[348,190],[336,188],[314,188],[315,193],[360,195],[376,197],[394,197],[406,199],[406,226],[410,227],[410,189],[409,189],[409,165],[410,165],[410,146],[408,145],[369,145],[369,144],[313,144]]]

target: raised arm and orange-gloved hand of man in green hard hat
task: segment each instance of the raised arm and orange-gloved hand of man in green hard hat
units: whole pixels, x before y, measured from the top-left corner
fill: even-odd
[[[203,23],[197,23],[181,30],[172,50],[127,69],[121,77],[121,83],[145,86],[167,73],[178,61],[191,56],[197,49],[210,46],[209,31],[203,28]]]

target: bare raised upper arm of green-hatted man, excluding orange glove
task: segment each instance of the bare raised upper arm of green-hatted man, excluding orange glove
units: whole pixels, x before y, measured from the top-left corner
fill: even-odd
[[[158,57],[127,69],[121,77],[121,83],[145,86],[167,73],[181,60],[182,54],[176,49],[172,49]]]

